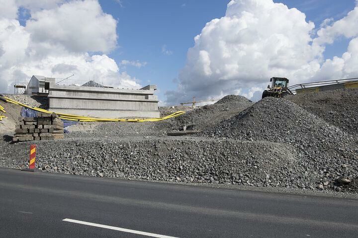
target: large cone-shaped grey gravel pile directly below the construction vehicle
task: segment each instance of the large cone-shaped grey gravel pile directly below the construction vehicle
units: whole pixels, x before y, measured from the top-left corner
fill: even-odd
[[[357,139],[285,99],[265,98],[201,135],[291,146],[302,169],[296,176],[305,176],[305,188],[317,184],[322,189],[336,189],[339,177],[358,177]],[[283,171],[282,177],[288,176],[290,170]]]

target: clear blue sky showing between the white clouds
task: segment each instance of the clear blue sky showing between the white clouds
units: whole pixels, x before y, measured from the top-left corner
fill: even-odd
[[[118,48],[109,56],[121,60],[147,62],[141,68],[126,65],[125,70],[141,84],[157,84],[159,96],[176,88],[176,78],[184,66],[193,38],[207,22],[225,15],[228,0],[100,0],[104,12],[118,21]],[[306,14],[316,28],[326,18],[340,19],[355,6],[354,0],[282,0],[289,8]],[[349,40],[338,39],[326,47],[325,58],[341,56]],[[164,54],[163,47],[172,53]]]

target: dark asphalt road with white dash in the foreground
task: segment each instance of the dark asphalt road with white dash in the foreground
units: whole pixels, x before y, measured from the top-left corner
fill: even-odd
[[[358,200],[0,169],[0,238],[151,236],[355,238]]]

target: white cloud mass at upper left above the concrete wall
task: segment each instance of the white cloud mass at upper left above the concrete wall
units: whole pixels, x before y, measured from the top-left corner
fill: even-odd
[[[120,72],[117,63],[105,55],[116,47],[116,21],[102,11],[97,0],[6,2],[11,2],[5,6],[12,13],[0,16],[1,92],[9,92],[14,82],[28,81],[32,74],[58,78],[75,74],[72,79],[95,78],[108,86],[140,87],[136,78]],[[31,14],[25,26],[13,14],[20,6]]]

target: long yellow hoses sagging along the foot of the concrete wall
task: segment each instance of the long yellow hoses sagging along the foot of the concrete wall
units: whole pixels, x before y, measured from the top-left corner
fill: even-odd
[[[29,109],[32,109],[34,111],[37,111],[37,112],[41,112],[41,113],[49,113],[49,114],[52,114],[52,113],[56,113],[56,112],[50,112],[50,111],[47,111],[45,109],[41,109],[41,108],[33,108],[33,107],[30,107],[30,106],[27,106],[25,104],[22,104],[20,102],[17,102],[15,100],[12,100],[10,98],[7,98],[7,97],[3,97],[6,99],[6,102],[7,103],[12,103],[12,104],[16,104],[16,105],[19,105],[19,106],[22,106],[22,107],[25,107],[25,108],[29,108]],[[0,106],[1,107],[1,106]],[[2,108],[2,107],[1,107]],[[85,117],[85,116],[79,116],[79,115],[71,115],[71,114],[64,114],[64,113],[56,113],[57,115],[59,115],[59,117],[61,119],[65,119],[65,120],[71,120],[71,121],[120,121],[120,122],[145,122],[145,121],[160,121],[160,120],[166,120],[166,119],[171,119],[171,118],[175,118],[175,117],[178,117],[180,115],[183,115],[185,112],[183,111],[178,111],[178,112],[175,112],[171,115],[168,115],[166,117],[163,117],[163,118],[135,118],[135,119],[118,119],[118,118],[92,118],[92,117]],[[3,117],[3,116],[2,116]]]

